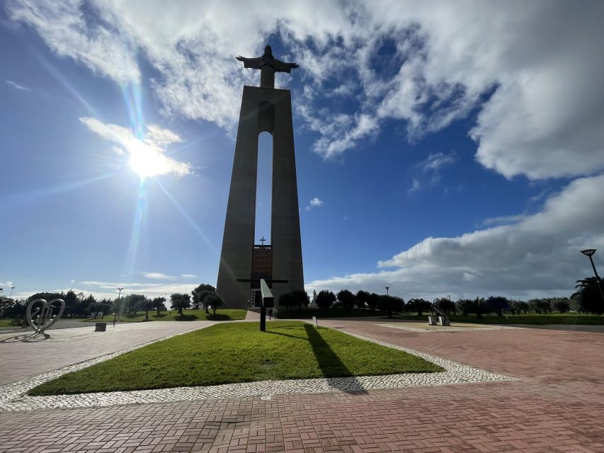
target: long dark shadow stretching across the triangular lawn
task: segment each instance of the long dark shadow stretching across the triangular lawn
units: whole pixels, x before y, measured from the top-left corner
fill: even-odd
[[[367,391],[363,389],[363,384],[355,376],[351,376],[351,370],[346,368],[340,357],[321,337],[317,328],[305,324],[304,330],[312,346],[312,351],[315,357],[317,357],[317,362],[319,362],[319,368],[321,368],[325,377],[328,378],[327,383],[329,386],[346,393],[366,394]]]

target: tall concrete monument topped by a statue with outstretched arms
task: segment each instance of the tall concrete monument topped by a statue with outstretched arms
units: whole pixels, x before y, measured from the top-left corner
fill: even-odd
[[[241,99],[217,282],[217,293],[229,307],[248,306],[251,289],[257,284],[252,261],[261,132],[273,136],[272,272],[266,280],[272,282],[275,302],[281,294],[304,289],[292,100],[289,90],[274,88],[275,71],[290,72],[297,64],[275,59],[270,46],[262,57],[237,59],[245,67],[261,70],[261,86],[244,86]]]

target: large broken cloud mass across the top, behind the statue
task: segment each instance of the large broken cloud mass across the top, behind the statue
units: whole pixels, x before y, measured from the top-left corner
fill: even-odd
[[[234,0],[174,8],[159,0],[91,0],[86,14],[82,5],[13,0],[7,10],[58,55],[119,84],[139,81],[143,55],[166,115],[232,128],[241,85],[258,81],[258,71],[233,57],[258,55],[280,33],[280,57],[300,63],[295,76],[306,85],[295,98],[297,113],[318,134],[314,149],[325,158],[359,147],[384,122],[404,122],[415,140],[482,105],[470,136],[487,168],[531,179],[604,168],[598,0],[308,0],[246,8]],[[394,51],[379,60],[384,45]],[[287,77],[280,74],[278,84]]]

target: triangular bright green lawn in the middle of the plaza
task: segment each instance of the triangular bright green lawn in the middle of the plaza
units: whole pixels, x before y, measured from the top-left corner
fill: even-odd
[[[266,332],[259,323],[224,323],[64,374],[29,394],[442,371],[406,352],[301,321],[267,323]]]

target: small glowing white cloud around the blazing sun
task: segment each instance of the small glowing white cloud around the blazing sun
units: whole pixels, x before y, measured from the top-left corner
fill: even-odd
[[[130,156],[130,165],[144,176],[173,173],[183,176],[191,173],[190,164],[178,162],[164,155],[168,144],[181,142],[181,137],[156,125],[147,126],[147,136],[139,139],[132,130],[118,125],[106,125],[96,118],[80,118],[89,129],[120,147],[113,147],[119,154],[124,150]]]

